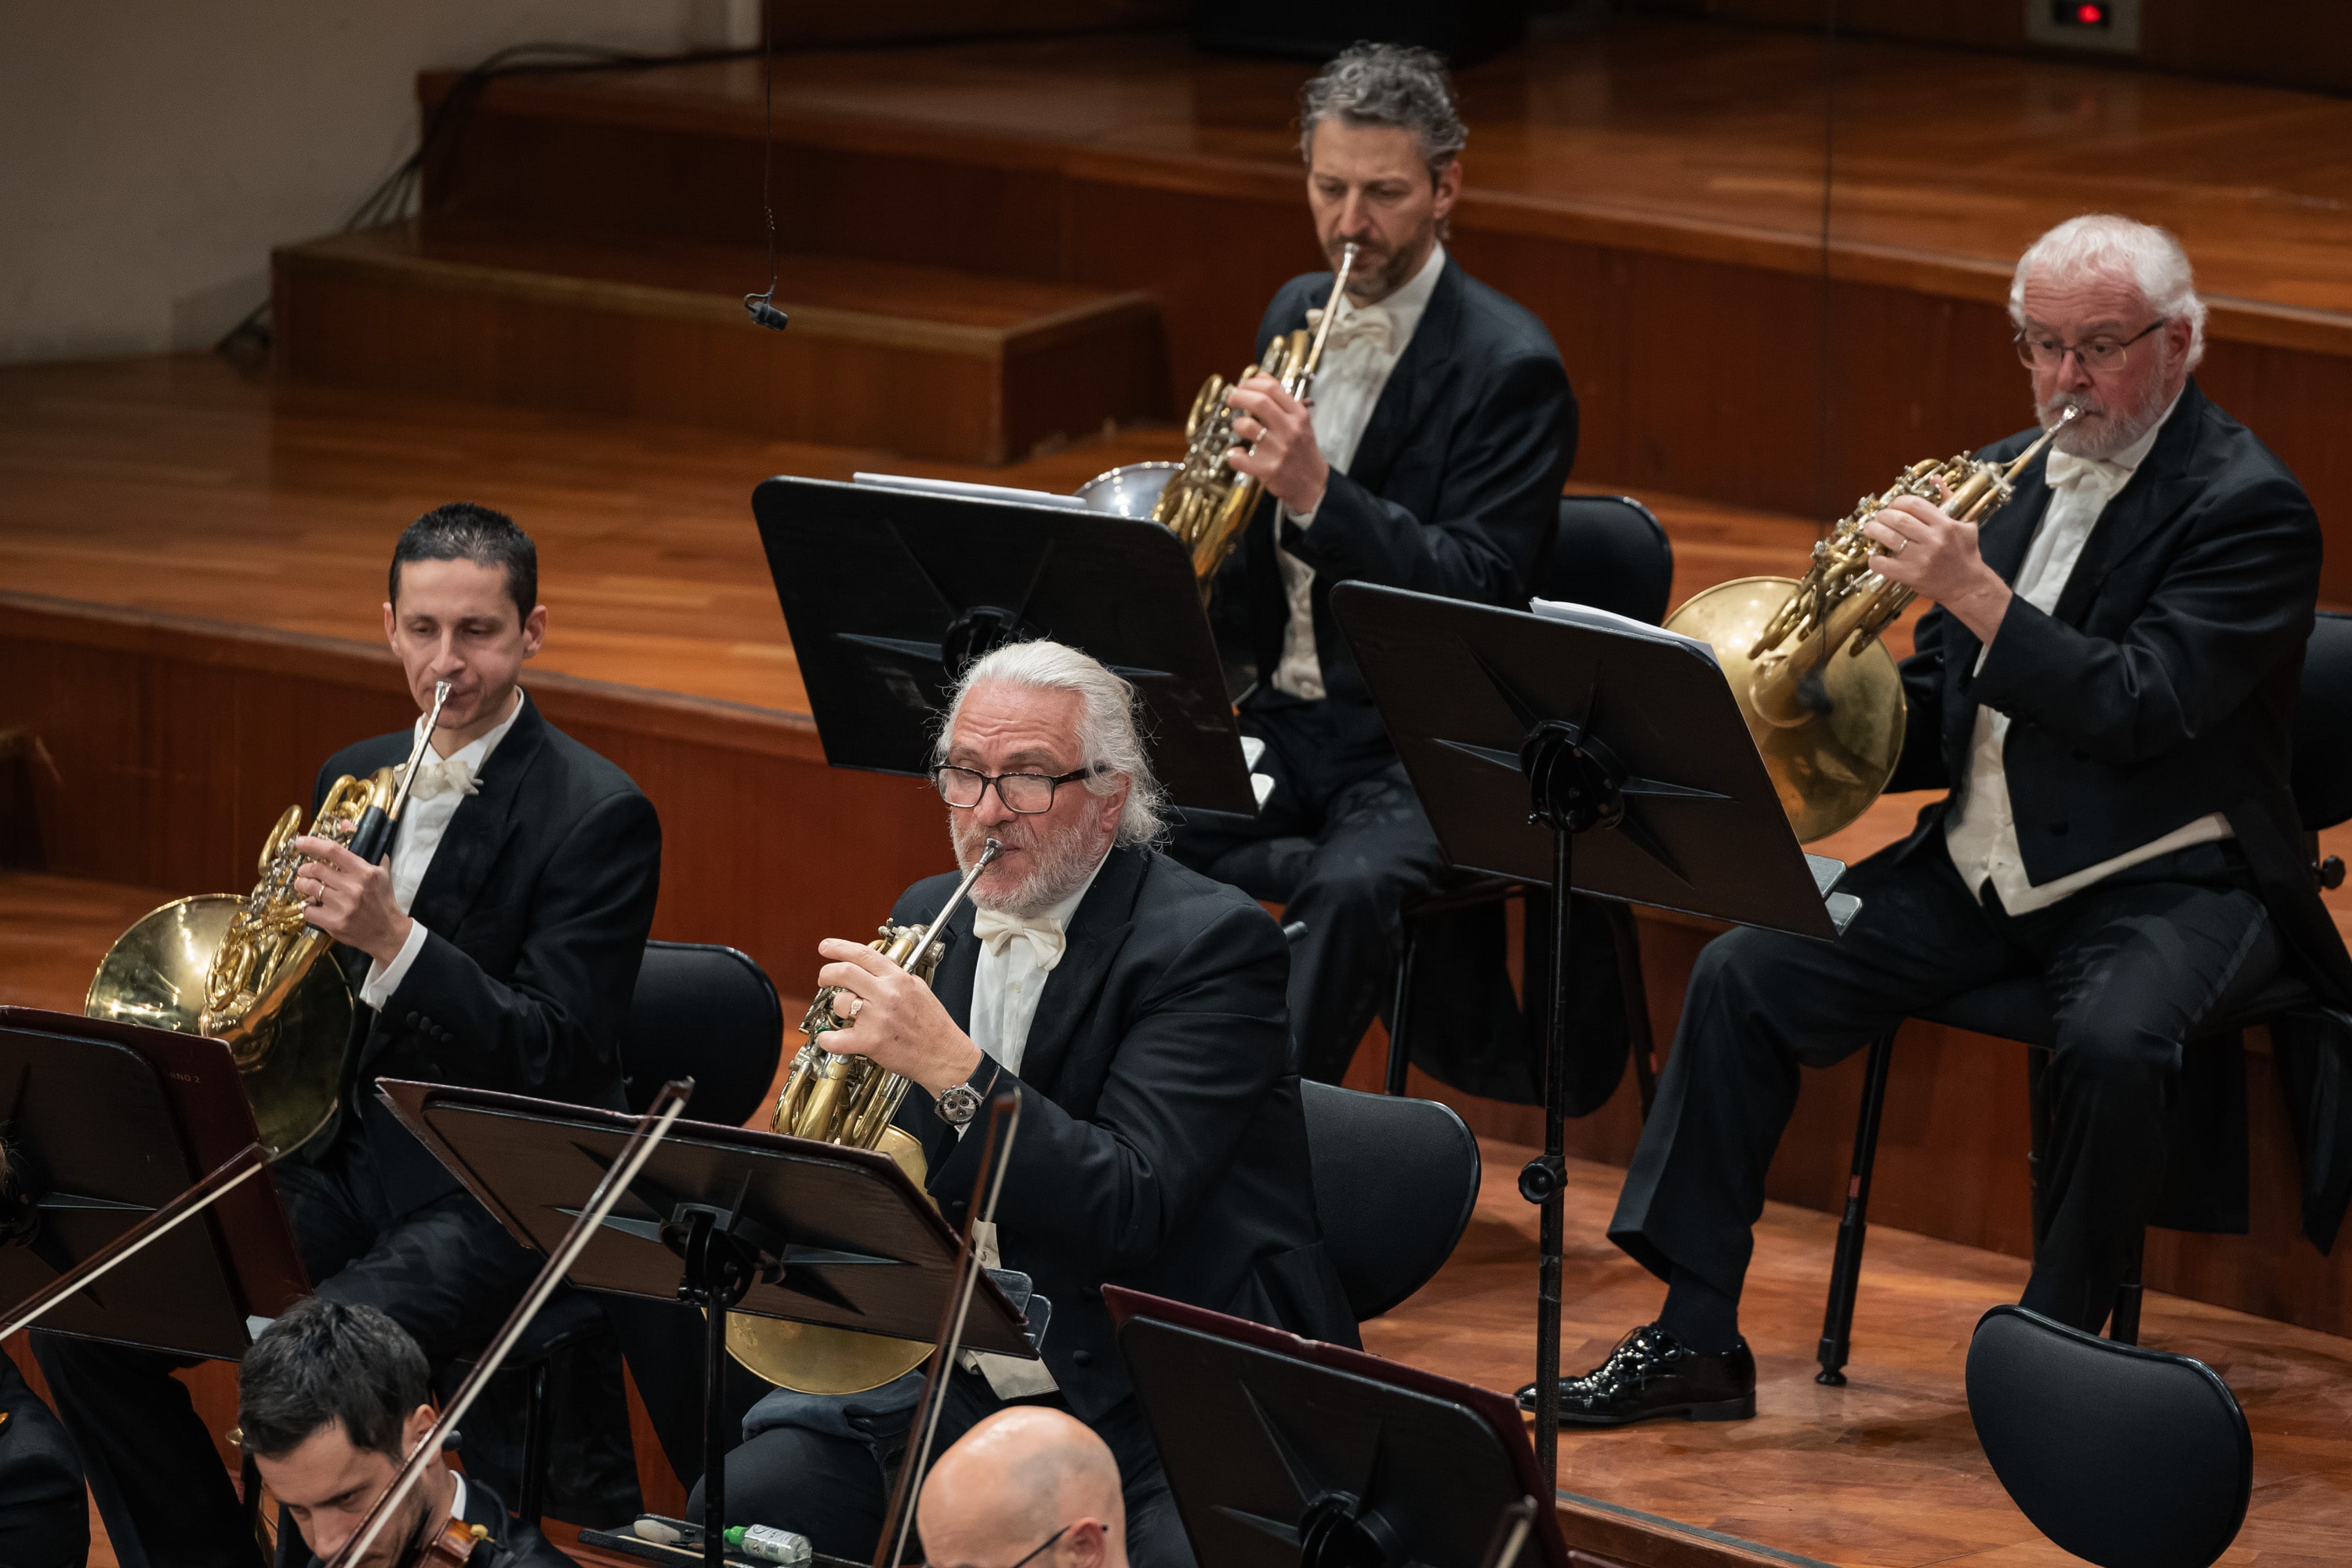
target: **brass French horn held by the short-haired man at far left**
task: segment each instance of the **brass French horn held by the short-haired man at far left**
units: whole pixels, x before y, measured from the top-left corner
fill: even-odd
[[[449,686],[440,684],[405,769],[336,778],[310,818],[310,837],[381,858],[447,701]],[[226,1041],[270,1159],[334,1121],[350,1044],[350,983],[339,964],[320,964],[334,938],[308,924],[294,891],[310,863],[294,849],[299,835],[301,806],[287,806],[261,844],[254,891],[198,893],[151,910],[106,950],[82,997],[89,1018]]]

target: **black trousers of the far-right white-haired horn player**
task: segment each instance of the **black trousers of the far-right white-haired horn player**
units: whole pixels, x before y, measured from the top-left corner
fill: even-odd
[[[1743,929],[1698,954],[1609,1239],[1661,1279],[1682,1265],[1736,1298],[1797,1070],[1844,1060],[1959,992],[2039,973],[2058,1044],[2044,1077],[2046,1232],[2023,1305],[2096,1333],[2164,1182],[2183,1044],[2279,969],[2244,860],[2197,844],[2009,914],[1990,889],[1985,903],[1969,896],[1938,832],[1839,886],[1863,907],[1837,943]]]

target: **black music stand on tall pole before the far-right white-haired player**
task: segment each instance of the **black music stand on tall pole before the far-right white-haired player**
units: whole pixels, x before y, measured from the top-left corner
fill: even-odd
[[[1402,588],[1331,590],[1446,858],[1465,870],[1832,940],[1844,865],[1797,846],[1715,654],[1618,616],[1536,616]],[[1552,922],[1536,1460],[1557,1474],[1569,922]]]

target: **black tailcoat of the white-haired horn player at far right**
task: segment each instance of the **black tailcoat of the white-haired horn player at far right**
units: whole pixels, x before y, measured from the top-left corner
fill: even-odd
[[[1980,456],[2009,461],[2037,435]],[[1983,524],[2002,581],[2016,581],[2049,510],[2044,468],[2034,458]],[[2352,1004],[2352,957],[2319,903],[2288,792],[2317,597],[2319,517],[2303,484],[2190,381],[2053,611],[2013,599],[1983,670],[1983,644],[1955,616],[1919,621],[1889,790],[1950,795],[1919,813],[1900,853],[1931,844],[1959,809],[1976,710],[1990,705],[2009,715],[2002,771],[2027,877],[2065,877],[2220,811],[2298,969],[2333,1009]],[[2305,1232],[2328,1246],[2352,1194],[2352,1086],[2333,1041],[2281,1034],[2279,1046],[2307,1157]]]

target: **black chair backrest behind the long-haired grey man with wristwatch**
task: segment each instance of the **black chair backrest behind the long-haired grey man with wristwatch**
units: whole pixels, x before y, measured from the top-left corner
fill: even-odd
[[[1477,1208],[1477,1138],[1451,1105],[1298,1081],[1315,1218],[1355,1319],[1430,1281]]]

